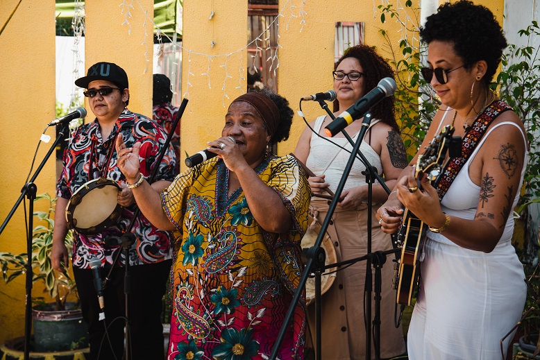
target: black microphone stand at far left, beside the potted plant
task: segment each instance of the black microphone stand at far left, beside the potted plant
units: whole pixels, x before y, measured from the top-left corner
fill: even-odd
[[[60,132],[58,132],[58,135],[56,136],[55,142],[51,145],[51,148],[49,148],[49,151],[47,151],[47,154],[43,158],[40,166],[37,166],[37,169],[35,169],[35,173],[30,178],[30,181],[27,182],[24,187],[21,189],[21,196],[17,199],[15,202],[15,205],[13,205],[11,211],[9,212],[8,216],[6,217],[6,220],[3,221],[1,227],[0,227],[0,234],[3,232],[3,230],[6,228],[6,225],[8,225],[11,217],[13,214],[15,214],[15,211],[17,210],[17,207],[21,204],[22,200],[26,196],[28,198],[28,211],[30,214],[28,214],[28,237],[26,239],[26,297],[24,300],[25,304],[25,311],[24,311],[24,360],[28,360],[30,358],[30,338],[31,338],[31,331],[32,331],[32,286],[33,286],[33,270],[32,270],[32,243],[33,243],[33,218],[34,218],[34,200],[37,194],[37,186],[34,184],[35,179],[37,178],[37,175],[40,174],[43,167],[45,166],[45,163],[47,163],[47,160],[49,160],[49,157],[51,157],[51,154],[53,151],[56,150],[56,146],[60,141],[62,140],[62,137],[64,137],[64,132],[67,129],[67,126],[62,126]]]

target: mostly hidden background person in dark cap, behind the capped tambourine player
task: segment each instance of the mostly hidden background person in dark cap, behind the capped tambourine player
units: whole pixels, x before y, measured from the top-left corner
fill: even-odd
[[[172,98],[171,80],[163,74],[153,74],[152,118],[164,128],[167,135],[171,132],[178,113],[178,107],[171,103]],[[176,165],[180,172],[180,121],[174,130],[171,145],[174,148]]]

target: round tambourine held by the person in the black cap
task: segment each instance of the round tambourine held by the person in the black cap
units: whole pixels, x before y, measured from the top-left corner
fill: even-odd
[[[67,227],[93,235],[117,223],[124,207],[118,203],[119,185],[110,179],[86,182],[74,192],[66,207]]]

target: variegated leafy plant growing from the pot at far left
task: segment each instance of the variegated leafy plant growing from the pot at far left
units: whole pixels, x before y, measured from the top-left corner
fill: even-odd
[[[33,268],[33,282],[42,282],[44,292],[56,302],[57,310],[64,310],[68,296],[76,295],[76,285],[74,280],[67,273],[56,273],[51,265],[51,249],[53,246],[53,228],[54,212],[56,198],[49,194],[40,194],[36,196],[35,201],[48,201],[49,208],[45,211],[35,211],[34,221],[37,224],[33,228],[32,254],[31,262]],[[69,253],[73,246],[73,235],[71,231],[66,237],[66,245]],[[12,254],[11,252],[0,252],[0,266],[4,282],[8,284],[19,275],[26,273],[26,264],[28,256],[26,253]],[[39,299],[33,299],[39,300]]]

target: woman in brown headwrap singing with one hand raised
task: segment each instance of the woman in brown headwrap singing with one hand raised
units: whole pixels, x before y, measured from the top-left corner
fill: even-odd
[[[177,239],[168,359],[269,358],[302,271],[310,200],[296,159],[268,150],[287,139],[292,116],[277,94],[239,96],[221,137],[208,142],[217,157],[161,194],[144,180],[133,189],[143,214]],[[117,151],[121,171],[138,183],[139,146],[119,137]],[[280,359],[303,359],[304,332],[301,302]]]

